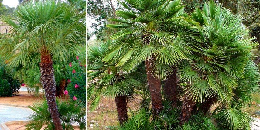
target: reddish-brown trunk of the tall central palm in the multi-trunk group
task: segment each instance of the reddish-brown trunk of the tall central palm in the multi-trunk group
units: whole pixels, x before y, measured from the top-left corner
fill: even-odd
[[[154,116],[158,116],[159,111],[162,109],[162,97],[161,97],[161,80],[157,80],[153,77],[152,73],[153,59],[145,60],[147,82],[151,93],[152,111]]]

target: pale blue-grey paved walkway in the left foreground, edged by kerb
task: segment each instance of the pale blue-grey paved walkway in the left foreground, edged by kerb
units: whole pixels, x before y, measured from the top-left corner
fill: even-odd
[[[32,112],[33,111],[30,108],[0,105],[0,123],[6,121],[27,120],[26,117]]]

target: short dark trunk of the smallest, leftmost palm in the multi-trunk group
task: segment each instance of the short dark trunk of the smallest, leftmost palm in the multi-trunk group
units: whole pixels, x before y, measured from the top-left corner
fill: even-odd
[[[116,109],[118,113],[118,120],[122,125],[128,118],[127,115],[127,101],[126,96],[118,96],[115,98]]]

